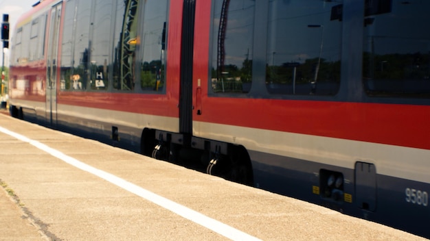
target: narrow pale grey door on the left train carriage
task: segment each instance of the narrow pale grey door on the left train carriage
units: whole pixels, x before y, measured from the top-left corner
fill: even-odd
[[[49,36],[47,46],[47,79],[46,79],[46,121],[49,125],[56,126],[57,123],[57,57],[58,36],[60,32],[61,3],[54,5],[51,9],[49,21]]]

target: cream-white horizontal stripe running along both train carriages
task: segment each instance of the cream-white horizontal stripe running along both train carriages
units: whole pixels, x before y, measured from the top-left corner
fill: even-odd
[[[36,108],[40,110],[45,107],[45,103],[35,101],[23,103],[28,106],[38,105]],[[148,127],[179,132],[179,119],[173,117],[72,105],[58,105],[58,114],[141,131]],[[193,131],[194,136],[240,144],[247,150],[342,168],[354,169],[356,162],[368,162],[376,166],[376,172],[380,175],[430,183],[430,150],[198,121],[193,122]],[[136,138],[140,138],[140,135],[135,134]]]

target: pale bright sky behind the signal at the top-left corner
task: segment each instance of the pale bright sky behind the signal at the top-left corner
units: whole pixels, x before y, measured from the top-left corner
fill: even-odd
[[[0,0],[0,21],[3,21],[3,14],[9,14],[10,23],[10,37],[13,38],[12,33],[16,21],[19,16],[32,9],[32,5],[37,3],[38,0]],[[0,45],[3,47],[3,44]],[[3,54],[3,51],[0,51]],[[8,49],[4,50],[5,53],[5,66],[8,65]],[[2,55],[0,55],[2,57]],[[1,61],[1,60],[0,60]],[[3,63],[0,63],[3,64]]]

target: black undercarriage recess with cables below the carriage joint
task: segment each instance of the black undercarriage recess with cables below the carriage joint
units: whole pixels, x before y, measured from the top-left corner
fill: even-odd
[[[145,129],[141,143],[141,153],[157,160],[253,186],[251,160],[245,147],[155,129]]]

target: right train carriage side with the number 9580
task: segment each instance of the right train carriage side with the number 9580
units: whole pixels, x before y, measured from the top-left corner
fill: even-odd
[[[429,237],[429,8],[214,2],[196,16],[194,136],[245,147],[260,188]]]

